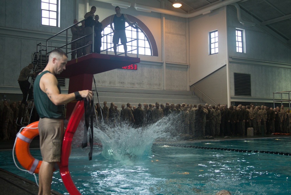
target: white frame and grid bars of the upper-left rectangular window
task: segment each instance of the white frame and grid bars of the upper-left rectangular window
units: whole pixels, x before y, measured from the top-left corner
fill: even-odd
[[[61,6],[60,6],[60,0],[55,0],[56,3],[52,2],[54,0],[40,0],[40,25],[41,26],[49,26],[49,27],[56,27],[60,28],[61,27],[61,19],[60,19],[60,12],[61,12]],[[42,3],[48,3],[49,8],[46,9],[42,7]],[[50,5],[55,5],[56,10],[53,10],[50,8]],[[48,12],[48,17],[43,15],[43,12]],[[55,17],[51,17],[50,14],[55,13]],[[42,20],[43,19],[48,19],[48,24],[43,24]],[[50,24],[50,20],[55,20],[55,25]]]

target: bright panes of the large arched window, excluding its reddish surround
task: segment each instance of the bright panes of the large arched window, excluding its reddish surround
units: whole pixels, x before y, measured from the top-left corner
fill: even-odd
[[[134,39],[136,39],[136,37],[138,36],[139,54],[152,56],[152,49],[150,46],[150,42],[148,41],[148,37],[145,35],[145,33],[139,28],[138,35],[137,35],[136,29],[132,28],[131,26],[128,26],[127,22],[125,22],[125,26],[127,26],[125,28],[125,34],[127,37],[127,53],[134,53],[134,54],[137,53],[137,41]],[[103,33],[102,35],[106,35],[106,36],[102,37],[101,50],[108,49],[108,51],[113,51],[113,43],[112,43],[113,33],[112,33],[112,29],[110,28],[110,25],[105,27],[102,33]],[[117,52],[121,52],[121,53],[124,52],[123,45],[120,45],[117,47]]]

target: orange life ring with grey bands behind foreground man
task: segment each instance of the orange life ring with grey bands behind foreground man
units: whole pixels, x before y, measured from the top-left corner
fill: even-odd
[[[21,164],[21,166],[28,170],[29,173],[38,173],[40,164],[42,163],[42,160],[38,160],[33,158],[29,151],[29,145],[34,137],[38,136],[38,121],[33,122],[26,127],[30,128],[24,128],[20,133],[17,133],[17,140],[15,143],[15,154],[17,157],[17,160]],[[36,128],[36,129],[31,129]],[[58,165],[55,164],[54,170],[58,169]]]

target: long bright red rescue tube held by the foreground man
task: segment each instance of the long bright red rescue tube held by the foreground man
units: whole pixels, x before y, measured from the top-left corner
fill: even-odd
[[[59,164],[59,168],[63,183],[70,195],[81,195],[79,190],[76,188],[75,184],[72,181],[70,171],[68,168],[68,162],[72,139],[83,114],[84,114],[84,101],[78,101],[68,121],[68,125],[65,130],[62,144],[61,162]]]

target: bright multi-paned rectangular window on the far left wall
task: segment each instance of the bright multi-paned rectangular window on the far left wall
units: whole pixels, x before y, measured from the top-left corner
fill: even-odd
[[[41,0],[41,24],[60,27],[59,0]]]

